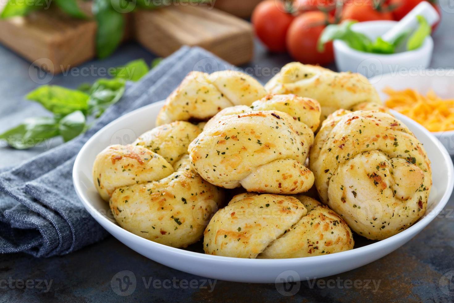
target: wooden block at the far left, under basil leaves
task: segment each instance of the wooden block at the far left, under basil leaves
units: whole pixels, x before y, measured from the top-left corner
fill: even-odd
[[[94,20],[69,18],[52,8],[0,21],[0,43],[54,74],[92,59],[95,35]]]

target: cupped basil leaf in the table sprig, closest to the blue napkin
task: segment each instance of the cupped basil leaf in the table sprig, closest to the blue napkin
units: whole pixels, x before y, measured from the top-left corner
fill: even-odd
[[[90,89],[89,113],[99,117],[110,105],[116,103],[124,93],[125,80],[98,79]]]

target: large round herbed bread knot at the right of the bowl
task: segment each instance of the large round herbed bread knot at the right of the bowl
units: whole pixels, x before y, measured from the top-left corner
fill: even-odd
[[[322,202],[366,238],[388,238],[425,213],[430,161],[390,114],[336,111],[323,122],[309,163]]]

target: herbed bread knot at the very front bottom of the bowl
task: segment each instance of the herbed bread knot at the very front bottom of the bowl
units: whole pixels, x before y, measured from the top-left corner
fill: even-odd
[[[353,245],[350,228],[316,200],[251,193],[219,210],[203,239],[205,253],[237,258],[299,258]]]

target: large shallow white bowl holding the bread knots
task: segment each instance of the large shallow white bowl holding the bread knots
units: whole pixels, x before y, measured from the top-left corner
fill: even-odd
[[[426,215],[403,232],[379,242],[330,255],[293,259],[243,259],[205,255],[172,248],[141,238],[119,227],[109,216],[109,206],[98,195],[92,180],[96,155],[109,144],[130,143],[153,128],[163,101],[134,110],[106,125],[80,150],[73,169],[74,187],[80,201],[96,221],[115,238],[147,258],[171,268],[199,276],[236,282],[276,283],[281,278],[295,281],[322,278],[358,268],[399,248],[419,233],[443,209],[454,185],[454,169],[448,153],[429,132],[414,121],[396,114],[410,127],[432,161],[434,186]],[[367,242],[370,243],[370,242]],[[201,247],[200,243],[196,243]],[[191,249],[191,247],[190,247]]]

